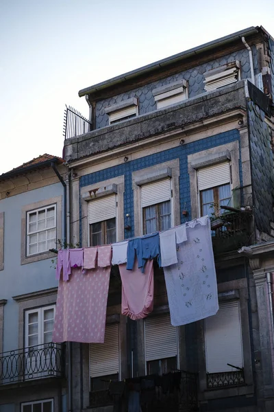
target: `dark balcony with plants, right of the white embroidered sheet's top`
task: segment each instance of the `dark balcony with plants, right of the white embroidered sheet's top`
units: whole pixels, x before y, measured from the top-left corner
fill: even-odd
[[[216,221],[211,222],[212,244],[216,255],[236,251],[250,244],[252,235],[250,211],[229,211],[220,216],[219,220],[219,227],[214,227]]]

